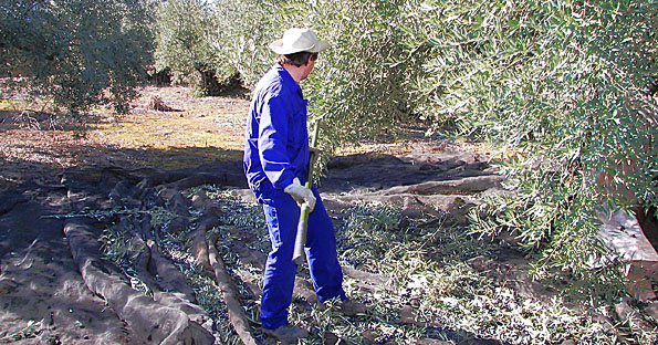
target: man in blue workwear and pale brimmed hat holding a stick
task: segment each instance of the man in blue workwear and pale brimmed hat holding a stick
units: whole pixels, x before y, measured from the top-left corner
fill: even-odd
[[[343,273],[336,258],[331,219],[315,186],[303,186],[309,174],[306,104],[299,83],[306,79],[328,43],[307,29],[290,29],[270,44],[276,64],[258,83],[247,123],[244,174],[255,198],[263,205],[272,251],[263,279],[261,314],[263,332],[283,342],[307,336],[288,324],[288,307],[296,264],[292,261],[300,205],[307,203],[305,253],[313,288],[321,302],[345,300]],[[347,302],[346,302],[347,303]]]

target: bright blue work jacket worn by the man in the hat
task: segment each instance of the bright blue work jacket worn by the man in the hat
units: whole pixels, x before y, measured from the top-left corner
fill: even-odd
[[[249,187],[263,192],[283,189],[307,177],[309,133],[302,88],[275,64],[255,86],[244,140],[243,167]]]

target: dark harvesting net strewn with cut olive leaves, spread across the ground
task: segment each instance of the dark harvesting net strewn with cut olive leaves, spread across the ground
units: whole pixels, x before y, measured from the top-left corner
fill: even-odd
[[[320,303],[303,265],[290,315],[302,343],[655,342],[636,305],[573,299],[530,279],[513,245],[471,233],[467,212],[501,178],[452,149],[330,161],[344,288],[367,312]],[[267,226],[241,174],[239,160],[94,165],[2,190],[0,343],[275,344],[258,320]]]

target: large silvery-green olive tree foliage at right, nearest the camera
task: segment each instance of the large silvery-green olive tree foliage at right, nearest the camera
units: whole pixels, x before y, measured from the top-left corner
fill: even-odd
[[[437,128],[453,121],[520,150],[501,167],[514,196],[492,200],[494,218],[474,217],[476,228],[518,231],[544,269],[586,273],[603,251],[598,206],[658,205],[658,106],[647,92],[658,2],[445,0],[417,14],[427,30],[410,49],[434,54],[415,84],[418,109]]]

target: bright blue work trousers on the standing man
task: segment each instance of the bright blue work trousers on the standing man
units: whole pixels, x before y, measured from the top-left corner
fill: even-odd
[[[321,302],[341,296],[343,272],[336,257],[336,237],[332,221],[320,199],[309,215],[306,231],[306,260],[311,271],[313,288]],[[281,189],[261,195],[272,251],[268,255],[261,296],[261,323],[263,328],[279,328],[288,323],[288,307],[292,302],[297,265],[292,261],[294,241],[300,220],[300,207],[293,198]]]

